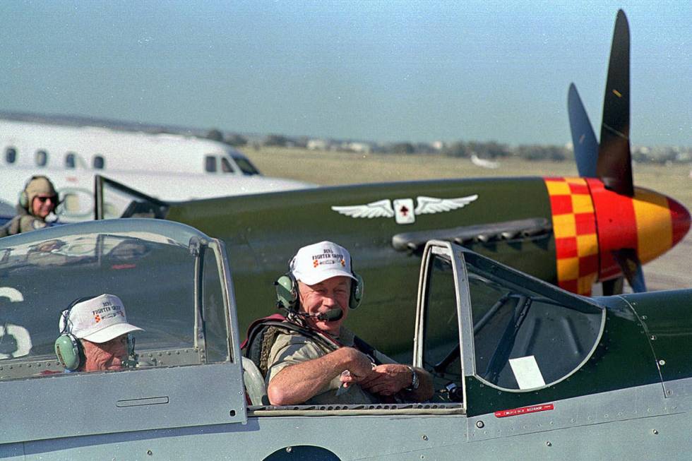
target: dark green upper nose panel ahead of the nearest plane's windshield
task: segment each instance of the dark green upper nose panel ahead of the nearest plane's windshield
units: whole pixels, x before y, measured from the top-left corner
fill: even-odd
[[[660,397],[684,395],[674,381],[692,376],[690,290],[595,299],[606,308],[603,335],[590,359],[566,380],[530,393],[497,390],[467,376],[468,414],[518,408],[580,395],[662,384]]]

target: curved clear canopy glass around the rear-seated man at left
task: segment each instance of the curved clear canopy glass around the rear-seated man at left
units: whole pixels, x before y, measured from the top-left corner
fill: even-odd
[[[196,257],[188,246],[135,232],[69,234],[4,251],[0,380],[42,376],[46,369],[62,371],[54,354],[60,313],[74,299],[100,293],[116,294],[129,323],[145,330],[133,333],[138,367],[205,361],[196,349]],[[216,323],[223,318],[211,307],[219,305],[217,293],[208,288],[207,298],[205,315],[208,323]],[[220,306],[222,310],[222,301]],[[217,336],[225,335],[225,323],[221,325],[210,327]],[[219,344],[210,341],[215,361],[227,358],[228,347]]]

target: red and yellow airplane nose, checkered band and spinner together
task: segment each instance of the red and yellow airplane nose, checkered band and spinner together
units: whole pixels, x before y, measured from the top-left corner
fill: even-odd
[[[613,250],[634,249],[641,263],[662,255],[690,228],[690,214],[672,198],[635,188],[634,197],[599,179],[544,178],[555,234],[558,285],[591,294],[594,282],[621,275]]]

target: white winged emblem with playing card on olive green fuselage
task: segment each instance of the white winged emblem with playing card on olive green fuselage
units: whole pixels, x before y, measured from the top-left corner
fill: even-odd
[[[332,210],[340,212],[342,215],[350,217],[394,217],[398,224],[412,224],[416,220],[416,215],[426,215],[429,213],[439,213],[463,208],[478,195],[459,197],[459,198],[435,198],[418,196],[417,205],[413,207],[411,198],[392,200],[385,198],[376,202],[366,203],[365,205],[333,206]]]

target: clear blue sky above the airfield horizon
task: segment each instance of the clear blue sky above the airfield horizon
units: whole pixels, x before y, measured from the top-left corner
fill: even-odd
[[[691,5],[5,1],[0,109],[377,141],[563,144],[572,81],[599,126],[621,7],[632,142],[691,146]]]

